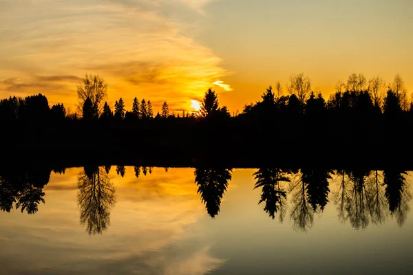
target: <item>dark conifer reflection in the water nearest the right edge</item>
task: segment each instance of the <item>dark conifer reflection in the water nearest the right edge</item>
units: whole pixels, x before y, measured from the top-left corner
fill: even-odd
[[[400,226],[405,222],[407,212],[410,210],[409,201],[411,199],[403,175],[407,175],[407,173],[402,170],[387,169],[383,171],[383,185],[385,186],[385,197],[388,201],[390,214],[396,217],[396,221]]]

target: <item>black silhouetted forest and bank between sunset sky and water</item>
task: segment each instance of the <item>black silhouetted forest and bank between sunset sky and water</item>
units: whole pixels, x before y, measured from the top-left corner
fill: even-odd
[[[231,114],[208,89],[198,112],[171,112],[164,102],[155,115],[151,100],[137,97],[128,111],[123,98],[112,108],[105,80],[86,75],[77,88],[75,113],[61,103],[50,107],[43,94],[0,100],[1,139],[13,148],[10,158],[128,157],[159,166],[162,160],[184,166],[216,162],[212,152],[221,152],[218,161],[233,167],[303,165],[315,159],[340,165],[361,158],[396,163],[412,151],[413,102],[399,74],[390,84],[379,76],[367,80],[352,74],[337,83],[328,100],[313,91],[304,74],[290,76],[286,90],[278,82],[259,101]],[[328,159],[320,159],[326,151]]]

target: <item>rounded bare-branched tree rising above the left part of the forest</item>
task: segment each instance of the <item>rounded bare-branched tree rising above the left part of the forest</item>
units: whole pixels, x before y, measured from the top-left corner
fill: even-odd
[[[78,109],[82,111],[83,103],[87,98],[92,101],[94,111],[100,115],[107,98],[107,85],[102,77],[85,74],[83,84],[77,87]]]

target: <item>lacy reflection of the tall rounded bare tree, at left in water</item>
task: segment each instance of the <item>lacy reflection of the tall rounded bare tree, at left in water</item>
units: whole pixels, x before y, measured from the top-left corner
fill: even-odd
[[[101,234],[109,225],[110,209],[115,204],[115,187],[104,168],[85,168],[78,175],[78,206],[81,224],[89,234]]]

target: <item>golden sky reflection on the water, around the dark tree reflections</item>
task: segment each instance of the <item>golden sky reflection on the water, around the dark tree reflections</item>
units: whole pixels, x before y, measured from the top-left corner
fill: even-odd
[[[370,200],[364,206],[362,201],[357,207],[353,203],[341,214],[343,177],[335,171],[323,210],[313,208],[308,196],[313,222],[304,231],[291,215],[297,190],[291,189],[292,184],[299,188],[301,179],[310,181],[300,173],[291,175],[290,183],[282,183],[288,192],[285,217],[280,222],[280,211],[272,219],[264,211],[265,203],[259,204],[262,188],[254,189],[253,175],[257,169],[232,170],[213,218],[201,201],[193,168],[169,168],[167,172],[165,168],[147,168],[146,175],[141,172],[138,178],[134,167],[125,167],[123,177],[116,170],[112,166],[109,171],[116,187],[115,202],[109,225],[101,234],[88,234],[87,226],[81,224],[78,179],[83,168],[52,173],[43,188],[45,203],[39,204],[35,214],[20,209],[0,212],[0,274],[413,272],[411,213],[407,212],[401,224],[390,211],[385,201],[390,190],[382,185],[385,175],[381,172],[377,178],[374,172],[366,177],[362,173],[345,175],[346,192],[360,196],[354,185],[358,188],[363,180],[361,187]],[[390,175],[388,172],[386,177]],[[412,173],[404,177],[408,186]],[[381,222],[372,212],[372,202],[377,201],[371,197],[376,179],[379,203],[383,204]],[[411,186],[405,188],[410,190]],[[407,203],[412,208],[412,200]],[[368,212],[368,225],[357,228],[348,213],[361,209]]]

